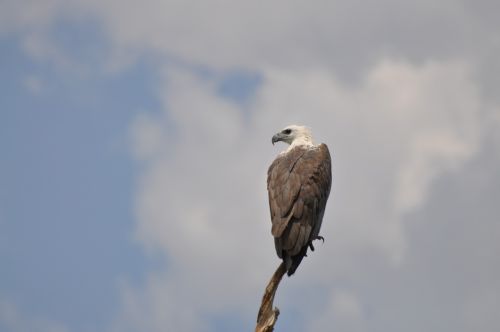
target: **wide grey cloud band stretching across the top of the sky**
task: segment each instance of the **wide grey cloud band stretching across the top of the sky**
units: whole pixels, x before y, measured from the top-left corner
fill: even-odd
[[[27,37],[46,34],[61,17],[97,19],[113,45],[111,66],[152,53],[212,69],[317,66],[349,77],[386,57],[461,57],[491,67],[498,52],[494,10],[477,2],[39,0],[3,7],[0,33]]]

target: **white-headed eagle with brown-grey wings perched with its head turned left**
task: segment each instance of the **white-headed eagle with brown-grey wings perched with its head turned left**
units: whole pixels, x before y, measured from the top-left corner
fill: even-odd
[[[308,127],[290,125],[272,137],[285,142],[267,171],[267,191],[274,244],[291,276],[314,251],[332,183],[331,158],[325,144],[314,144]]]

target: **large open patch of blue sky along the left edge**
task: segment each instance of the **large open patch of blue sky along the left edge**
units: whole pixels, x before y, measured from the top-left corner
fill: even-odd
[[[96,329],[118,303],[116,281],[138,282],[153,264],[132,237],[139,166],[128,124],[154,109],[154,75],[137,65],[81,79],[14,41],[2,42],[1,63],[2,294],[28,313]],[[26,87],[33,75],[40,93]]]

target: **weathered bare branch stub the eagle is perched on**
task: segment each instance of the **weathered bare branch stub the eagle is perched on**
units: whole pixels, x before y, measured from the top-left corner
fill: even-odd
[[[266,291],[262,297],[259,314],[257,315],[257,326],[255,327],[255,332],[272,332],[274,330],[274,324],[278,320],[278,316],[280,314],[278,308],[273,309],[274,295],[276,294],[278,285],[285,272],[285,263],[282,262],[267,284]]]

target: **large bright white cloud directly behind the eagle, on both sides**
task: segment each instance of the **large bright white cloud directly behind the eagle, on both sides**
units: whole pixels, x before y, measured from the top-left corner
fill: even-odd
[[[425,201],[439,174],[459,169],[478,145],[481,103],[460,62],[384,61],[357,86],[327,71],[268,69],[246,110],[249,123],[243,110],[216,94],[213,81],[180,70],[166,77],[164,116],[173,124],[149,119],[152,134],[136,131],[138,142],[149,142],[137,146],[145,155],[150,145],[162,147],[140,181],[138,237],[167,255],[168,271],[153,274],[154,282],[129,297],[142,303],[147,294],[164,294],[165,302],[150,298],[146,307],[163,309],[149,315],[176,303],[194,311],[193,324],[206,325],[200,317],[256,310],[277,264],[265,193],[266,168],[277,151],[267,138],[284,125],[311,125],[334,158],[327,243],[299,269],[299,288],[313,282],[329,289],[332,279],[359,273],[366,255],[404,262],[404,214]],[[443,88],[436,91],[438,86]],[[364,320],[359,301],[344,295],[335,295],[332,310]],[[180,321],[173,328],[190,331]]]

